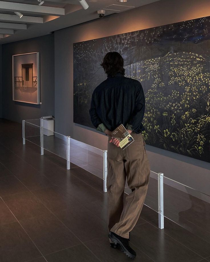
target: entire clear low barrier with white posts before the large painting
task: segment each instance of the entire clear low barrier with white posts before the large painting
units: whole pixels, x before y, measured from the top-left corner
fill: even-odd
[[[38,146],[41,155],[50,152],[65,159],[67,169],[80,167],[100,177],[103,179],[104,192],[107,191],[107,150],[48,130],[43,127],[43,119],[23,120],[23,144],[26,140]],[[126,181],[125,193],[130,192]],[[163,173],[151,171],[144,205],[158,213],[159,228],[164,228],[166,217],[199,237],[206,236],[205,230],[210,232],[210,196],[174,181]]]

